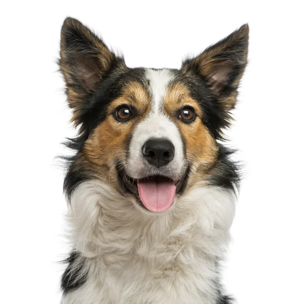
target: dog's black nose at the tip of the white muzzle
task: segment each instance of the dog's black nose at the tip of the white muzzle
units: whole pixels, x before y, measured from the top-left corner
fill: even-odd
[[[150,139],[143,146],[147,162],[156,167],[167,165],[174,158],[174,145],[167,139]]]

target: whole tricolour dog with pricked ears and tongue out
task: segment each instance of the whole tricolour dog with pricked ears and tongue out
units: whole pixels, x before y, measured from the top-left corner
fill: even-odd
[[[62,304],[229,304],[220,260],[240,181],[223,130],[247,64],[243,25],[180,70],[128,68],[78,20],[61,29],[72,123]]]

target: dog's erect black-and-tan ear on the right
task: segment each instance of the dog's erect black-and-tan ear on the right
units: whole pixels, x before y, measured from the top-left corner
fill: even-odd
[[[199,56],[183,62],[182,71],[201,75],[226,111],[236,103],[237,88],[247,64],[248,38],[246,24]]]

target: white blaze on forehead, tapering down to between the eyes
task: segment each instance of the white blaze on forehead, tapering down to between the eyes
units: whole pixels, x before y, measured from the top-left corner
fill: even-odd
[[[146,77],[149,80],[149,90],[152,94],[152,107],[154,113],[158,113],[165,94],[167,93],[167,86],[172,80],[171,72],[168,69],[152,70],[147,69]]]

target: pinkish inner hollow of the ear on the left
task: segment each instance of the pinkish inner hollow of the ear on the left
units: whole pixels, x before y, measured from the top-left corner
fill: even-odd
[[[84,89],[90,92],[100,80],[99,63],[95,58],[85,56],[78,56],[76,61],[77,76],[84,81]]]

